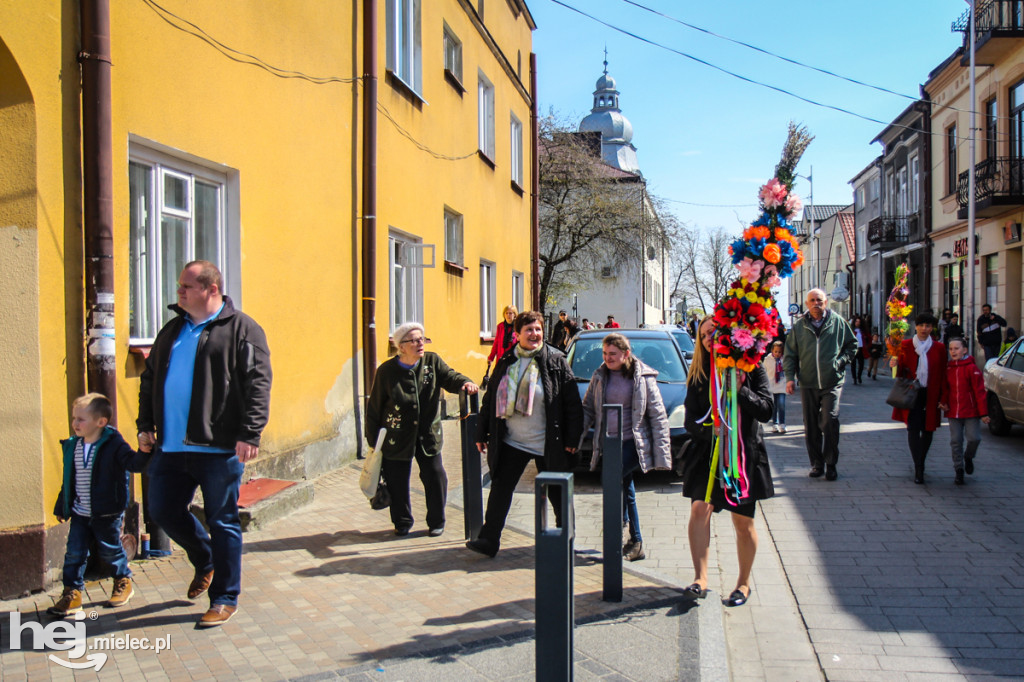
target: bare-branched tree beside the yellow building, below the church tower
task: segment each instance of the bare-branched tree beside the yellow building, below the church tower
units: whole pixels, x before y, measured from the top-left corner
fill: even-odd
[[[600,133],[573,132],[549,116],[541,122],[540,146],[543,312],[602,266],[639,259],[644,244],[665,233],[643,177],[601,161]]]

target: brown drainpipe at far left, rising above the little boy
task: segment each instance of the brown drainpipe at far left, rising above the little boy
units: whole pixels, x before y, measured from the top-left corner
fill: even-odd
[[[111,400],[116,425],[111,10],[108,0],[81,0],[80,10],[87,382]]]

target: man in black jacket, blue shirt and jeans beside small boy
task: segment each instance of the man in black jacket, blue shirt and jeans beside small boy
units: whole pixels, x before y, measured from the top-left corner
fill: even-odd
[[[188,598],[209,589],[199,626],[211,628],[238,608],[239,488],[269,417],[270,350],[263,329],[223,295],[213,263],[185,265],[177,294],[170,306],[177,315],[145,361],[136,426],[140,446],[159,444],[150,463],[150,511],[196,568]],[[188,511],[197,487],[209,535]]]

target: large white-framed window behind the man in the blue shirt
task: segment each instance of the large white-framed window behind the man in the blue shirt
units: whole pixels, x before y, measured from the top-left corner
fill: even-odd
[[[172,316],[177,279],[191,260],[209,260],[241,305],[237,185],[225,172],[132,145],[128,163],[128,329],[147,343]],[[233,224],[231,228],[229,225]]]

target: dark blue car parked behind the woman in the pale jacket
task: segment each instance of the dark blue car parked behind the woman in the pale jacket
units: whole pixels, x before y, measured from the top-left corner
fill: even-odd
[[[675,461],[682,453],[688,436],[684,423],[686,412],[683,401],[686,399],[686,373],[689,369],[683,353],[667,330],[652,329],[616,329],[613,330],[630,340],[633,353],[644,365],[657,370],[657,387],[662,392],[665,411],[669,415],[669,428],[672,438],[672,456]],[[587,393],[590,379],[597,368],[604,361],[601,340],[609,330],[594,329],[580,332],[569,344],[567,356],[572,374],[575,375],[580,387],[580,397]],[[589,467],[590,453],[593,450],[593,429],[587,434],[583,444],[581,467]]]

